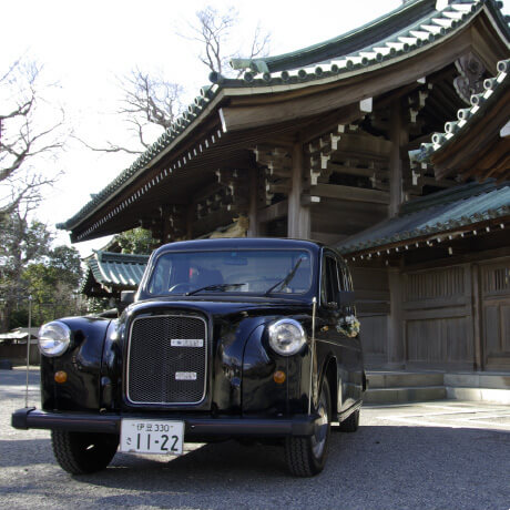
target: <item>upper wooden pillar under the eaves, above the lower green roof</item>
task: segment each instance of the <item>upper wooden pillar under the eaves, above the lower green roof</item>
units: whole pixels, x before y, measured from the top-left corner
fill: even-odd
[[[404,123],[400,99],[394,101],[390,108],[389,136],[391,141],[391,153],[389,156],[389,215],[391,217],[398,213],[404,200],[404,161],[401,147],[409,142],[409,133]]]

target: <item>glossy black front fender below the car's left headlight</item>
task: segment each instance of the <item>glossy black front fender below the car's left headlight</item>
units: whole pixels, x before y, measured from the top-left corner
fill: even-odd
[[[41,356],[41,406],[44,410],[98,410],[103,344],[110,319],[68,317],[59,319],[71,329],[69,349],[54,358]],[[54,380],[65,371],[65,382]]]

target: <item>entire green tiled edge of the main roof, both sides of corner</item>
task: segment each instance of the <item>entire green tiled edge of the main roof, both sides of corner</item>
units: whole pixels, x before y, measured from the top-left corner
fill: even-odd
[[[215,72],[211,73],[210,80],[213,85],[202,88],[201,95],[195,98],[187,110],[145,153],[94,195],[74,216],[58,224],[57,227],[72,230],[89,214],[92,214],[100,204],[113,196],[126,182],[144,172],[163,151],[185,135],[198,118],[206,114],[207,106],[220,91],[235,88],[255,90],[257,86],[267,85],[303,86],[308,82],[313,84],[317,80],[339,80],[343,74],[361,73],[384,63],[401,60],[434,44],[441,38],[451,35],[484,6],[493,14],[501,33],[510,41],[508,22],[500,12],[501,2],[453,0],[443,9],[438,9],[441,1],[410,1],[358,30],[286,55],[253,61],[234,60],[236,68],[249,69],[242,79],[228,79]],[[318,59],[318,61],[312,62],[310,59]],[[306,62],[306,65],[299,67],[303,62]]]

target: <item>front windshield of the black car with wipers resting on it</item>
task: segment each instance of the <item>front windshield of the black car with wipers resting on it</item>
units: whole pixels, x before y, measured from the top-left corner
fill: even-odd
[[[207,293],[304,294],[312,285],[306,249],[170,252],[149,282],[152,295]]]

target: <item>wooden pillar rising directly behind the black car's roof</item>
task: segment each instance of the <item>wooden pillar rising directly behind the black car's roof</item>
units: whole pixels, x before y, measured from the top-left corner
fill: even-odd
[[[287,237],[309,239],[310,208],[302,205],[303,176],[303,144],[300,142],[295,142],[293,145],[290,192],[288,193]]]

